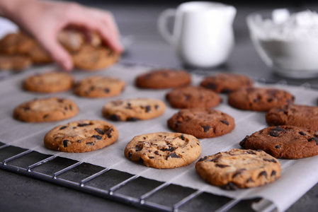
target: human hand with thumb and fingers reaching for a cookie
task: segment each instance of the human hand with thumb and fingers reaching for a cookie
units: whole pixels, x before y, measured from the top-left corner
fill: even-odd
[[[16,6],[8,18],[33,35],[64,70],[72,70],[72,58],[57,40],[57,34],[68,25],[96,31],[106,44],[122,52],[119,32],[112,14],[69,2],[13,0]]]

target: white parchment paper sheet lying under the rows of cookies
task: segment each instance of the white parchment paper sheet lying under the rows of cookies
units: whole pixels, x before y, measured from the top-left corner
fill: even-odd
[[[254,189],[240,189],[237,191],[225,191],[218,187],[207,184],[195,172],[195,162],[186,167],[180,167],[171,170],[157,170],[152,167],[145,167],[127,160],[124,155],[124,149],[127,143],[136,135],[147,134],[159,131],[171,131],[166,126],[166,121],[178,110],[169,107],[169,103],[165,100],[165,95],[169,90],[144,90],[134,86],[135,76],[145,71],[149,71],[149,67],[135,66],[127,67],[116,65],[100,72],[72,72],[74,78],[79,80],[86,76],[101,75],[118,77],[126,81],[125,91],[114,98],[80,98],[72,93],[72,91],[55,94],[38,94],[30,93],[21,89],[21,82],[26,76],[33,73],[50,71],[53,66],[45,66],[44,68],[32,69],[24,73],[16,74],[0,82],[0,141],[29,148],[40,153],[59,155],[65,158],[110,167],[115,170],[130,172],[134,175],[140,175],[149,179],[157,179],[163,182],[179,184],[184,187],[192,187],[200,189],[212,194],[229,196],[235,199],[249,199],[254,197],[263,197],[272,201],[278,208],[278,211],[285,211],[297,199],[305,194],[311,187],[318,182],[318,157],[304,158],[300,160],[280,160],[283,172],[280,179],[276,182],[268,184],[264,187]],[[202,80],[202,76],[193,75],[193,85],[198,85]],[[258,85],[260,86],[260,85]],[[296,86],[272,85],[271,87],[288,90],[295,95],[295,103],[300,105],[316,105],[318,98],[317,90],[305,89]],[[12,118],[14,107],[22,102],[33,100],[33,98],[46,98],[49,96],[57,96],[60,98],[69,98],[79,105],[80,112],[72,119],[61,122],[50,123],[25,123],[19,122]],[[164,100],[167,104],[166,112],[156,119],[138,121],[138,122],[111,122],[119,131],[119,139],[112,145],[98,151],[89,153],[62,153],[51,151],[43,145],[43,138],[47,131],[59,124],[76,121],[79,119],[105,119],[101,114],[103,105],[111,100],[125,100],[128,98],[157,98]],[[240,148],[239,141],[244,139],[246,135],[250,135],[255,131],[267,127],[265,120],[265,112],[250,112],[237,110],[227,105],[227,96],[222,95],[223,102],[215,107],[217,110],[225,112],[235,119],[236,127],[225,136],[213,139],[200,139],[202,145],[202,153],[200,157],[212,155],[220,151],[229,151],[232,148]]]

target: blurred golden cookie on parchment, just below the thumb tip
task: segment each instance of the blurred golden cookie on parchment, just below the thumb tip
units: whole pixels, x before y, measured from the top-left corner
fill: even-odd
[[[39,93],[55,93],[69,90],[74,86],[74,79],[69,73],[50,71],[25,78],[23,88]]]

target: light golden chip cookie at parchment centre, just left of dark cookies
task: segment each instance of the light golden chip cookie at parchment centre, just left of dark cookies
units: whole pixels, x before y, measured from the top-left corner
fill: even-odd
[[[159,117],[164,110],[166,105],[161,100],[135,98],[107,103],[103,115],[113,121],[137,121]]]

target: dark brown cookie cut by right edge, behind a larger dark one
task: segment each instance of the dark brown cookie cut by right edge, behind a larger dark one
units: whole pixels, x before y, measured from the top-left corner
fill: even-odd
[[[318,131],[318,107],[307,105],[282,105],[266,114],[271,126],[290,125]]]

